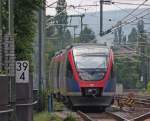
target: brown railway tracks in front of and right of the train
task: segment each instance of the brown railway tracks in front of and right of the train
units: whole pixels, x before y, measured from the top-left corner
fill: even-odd
[[[114,107],[107,108],[105,112],[97,112],[95,109],[88,108],[75,113],[78,121],[150,121],[149,98],[136,97],[134,100],[136,102],[134,108],[128,106],[120,108],[118,105],[114,105]],[[87,113],[87,111],[90,112]]]

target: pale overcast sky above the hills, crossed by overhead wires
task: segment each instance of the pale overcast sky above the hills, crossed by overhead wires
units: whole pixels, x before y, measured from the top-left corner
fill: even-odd
[[[47,5],[54,3],[57,0],[47,0]],[[67,5],[96,5],[98,4],[99,0],[66,0]],[[135,4],[141,4],[144,0],[113,0],[113,2],[126,2],[126,3],[135,3]],[[150,0],[146,2],[145,4],[150,4]],[[56,7],[56,4],[54,4],[52,7]],[[136,8],[137,5],[121,5],[121,4],[115,4],[115,5],[104,5],[104,11],[110,11],[110,10],[121,10],[121,9],[128,9],[128,8]],[[85,10],[86,9],[86,10]],[[68,14],[81,14],[85,12],[96,12],[99,11],[99,7],[84,7],[84,9],[76,8],[73,9],[71,7],[67,8]],[[55,15],[55,9],[54,8],[47,8],[46,14],[47,15]]]

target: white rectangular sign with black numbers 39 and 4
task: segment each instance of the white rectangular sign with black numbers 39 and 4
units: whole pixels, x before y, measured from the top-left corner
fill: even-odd
[[[16,82],[29,82],[29,61],[16,61]]]

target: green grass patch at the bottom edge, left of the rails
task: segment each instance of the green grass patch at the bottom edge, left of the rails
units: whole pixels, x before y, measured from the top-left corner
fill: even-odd
[[[59,117],[48,112],[36,113],[33,121],[61,121]]]

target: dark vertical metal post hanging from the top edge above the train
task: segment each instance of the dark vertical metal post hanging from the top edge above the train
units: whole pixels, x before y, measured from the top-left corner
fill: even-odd
[[[100,36],[103,35],[103,0],[100,0]]]

